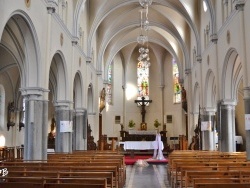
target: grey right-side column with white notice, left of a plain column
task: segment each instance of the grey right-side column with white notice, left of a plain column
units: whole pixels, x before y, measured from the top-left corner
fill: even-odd
[[[211,122],[211,130],[202,131],[202,149],[203,150],[215,150],[215,140],[214,140],[214,115],[215,109],[206,108],[203,115],[203,121]]]

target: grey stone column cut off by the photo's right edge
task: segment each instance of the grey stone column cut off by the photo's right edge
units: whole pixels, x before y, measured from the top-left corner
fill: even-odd
[[[250,87],[244,88],[245,116],[250,114]],[[245,121],[246,123],[247,121]],[[247,127],[247,126],[246,126]],[[246,128],[246,152],[247,160],[250,160],[250,130]]]

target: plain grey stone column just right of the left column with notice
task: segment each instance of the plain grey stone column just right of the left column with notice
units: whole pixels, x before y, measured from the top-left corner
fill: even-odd
[[[73,150],[87,150],[87,110],[75,109]]]

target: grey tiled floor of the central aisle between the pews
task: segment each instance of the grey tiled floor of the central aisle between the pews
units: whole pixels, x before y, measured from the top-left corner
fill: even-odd
[[[147,167],[127,165],[124,188],[170,188],[167,165],[149,164]]]

